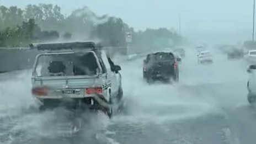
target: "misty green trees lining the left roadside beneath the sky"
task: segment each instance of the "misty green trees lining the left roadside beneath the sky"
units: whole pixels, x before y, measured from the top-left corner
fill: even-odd
[[[131,46],[136,49],[168,47],[183,40],[166,28],[136,32],[121,18],[98,16],[87,7],[65,15],[52,4],[30,4],[25,9],[0,6],[0,31],[0,47],[21,47],[29,42],[60,38],[100,39],[105,45],[126,46],[126,33],[132,34]]]

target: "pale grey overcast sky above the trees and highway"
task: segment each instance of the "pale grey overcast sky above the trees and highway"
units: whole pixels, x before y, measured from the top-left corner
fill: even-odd
[[[52,3],[62,13],[87,6],[97,14],[122,18],[138,29],[167,27],[190,39],[243,41],[251,39],[253,0],[1,0],[4,6]]]

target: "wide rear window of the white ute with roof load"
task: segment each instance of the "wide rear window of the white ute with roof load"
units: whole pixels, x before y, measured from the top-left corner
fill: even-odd
[[[38,76],[95,75],[98,71],[97,59],[92,52],[41,55],[36,65]]]

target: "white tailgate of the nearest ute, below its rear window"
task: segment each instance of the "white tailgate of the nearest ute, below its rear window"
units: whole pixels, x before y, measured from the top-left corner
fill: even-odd
[[[40,97],[42,99],[47,98],[84,98],[93,97],[94,94],[85,93],[86,88],[91,87],[103,87],[106,83],[104,77],[44,77],[33,78],[33,87],[46,86],[49,89],[49,93]],[[35,95],[38,97],[38,95]]]

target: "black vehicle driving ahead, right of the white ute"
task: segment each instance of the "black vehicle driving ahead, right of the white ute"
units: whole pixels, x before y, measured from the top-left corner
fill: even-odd
[[[156,52],[148,54],[143,61],[143,79],[148,83],[161,80],[169,82],[179,81],[179,68],[172,52]]]

